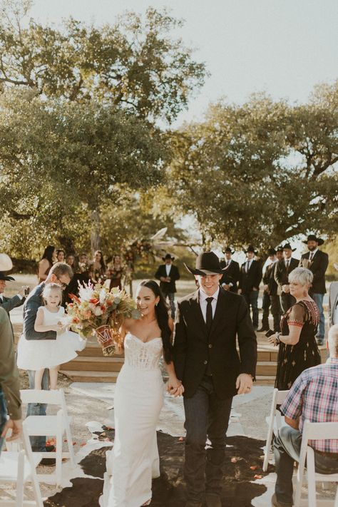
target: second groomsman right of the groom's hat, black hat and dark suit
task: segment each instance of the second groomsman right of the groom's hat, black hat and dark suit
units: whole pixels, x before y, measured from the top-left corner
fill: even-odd
[[[245,250],[247,260],[243,262],[240,270],[240,287],[238,294],[242,294],[247,302],[247,307],[252,309],[252,324],[258,327],[258,293],[262,281],[262,264],[254,259],[257,252],[252,245]]]

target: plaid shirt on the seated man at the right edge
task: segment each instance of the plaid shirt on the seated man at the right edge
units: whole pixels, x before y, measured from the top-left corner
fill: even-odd
[[[305,369],[292,385],[280,407],[289,419],[298,419],[299,431],[304,422],[338,422],[338,358]],[[338,453],[338,439],[309,440],[317,451]]]

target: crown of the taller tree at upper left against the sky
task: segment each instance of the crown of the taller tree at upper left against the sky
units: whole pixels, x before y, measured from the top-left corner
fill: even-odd
[[[102,27],[75,19],[61,27],[33,19],[22,26],[29,5],[7,11],[0,21],[0,83],[6,86],[67,101],[95,98],[171,121],[204,83],[205,65],[171,36],[182,21],[165,9],[149,7],[143,16],[128,12]]]

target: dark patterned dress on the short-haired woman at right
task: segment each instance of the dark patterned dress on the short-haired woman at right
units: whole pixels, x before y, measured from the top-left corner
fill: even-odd
[[[303,299],[290,307],[283,315],[280,322],[282,335],[290,334],[289,325],[299,326],[302,331],[297,344],[280,344],[275,381],[275,387],[279,391],[287,391],[304,369],[321,363],[315,338],[318,324],[319,310],[314,301]]]

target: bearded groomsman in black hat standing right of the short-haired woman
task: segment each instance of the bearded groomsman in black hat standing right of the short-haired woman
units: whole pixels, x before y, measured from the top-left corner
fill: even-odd
[[[319,327],[317,332],[317,344],[324,343],[325,336],[325,317],[323,309],[324,294],[327,290],[325,287],[325,272],[329,265],[329,256],[327,253],[319,250],[319,246],[324,243],[322,238],[314,234],[307,236],[307,240],[303,241],[307,245],[309,252],[303,254],[299,266],[307,267],[313,273],[312,287],[309,290],[309,295],[314,299],[319,308]]]

